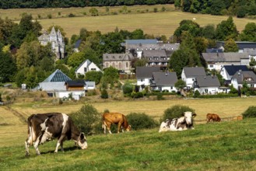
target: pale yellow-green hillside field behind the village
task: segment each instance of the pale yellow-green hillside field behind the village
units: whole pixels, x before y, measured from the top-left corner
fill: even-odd
[[[162,7],[167,9],[166,12],[160,12]],[[66,37],[71,37],[73,34],[79,34],[81,28],[86,28],[89,31],[100,30],[101,33],[113,32],[117,27],[119,30],[133,31],[142,29],[144,33],[153,34],[154,36],[166,35],[170,37],[179,26],[183,19],[193,19],[200,26],[214,24],[215,26],[221,21],[226,20],[228,16],[211,16],[202,14],[191,14],[181,12],[174,9],[174,5],[135,5],[128,6],[129,13],[123,14],[120,12],[122,6],[110,7],[110,12],[106,12],[105,7],[96,7],[99,10],[100,16],[89,16],[90,7],[86,8],[69,8],[69,9],[0,9],[2,18],[9,17],[19,22],[21,14],[26,11],[32,14],[34,19],[37,19],[47,30],[52,25],[61,26],[66,34]],[[157,8],[159,12],[153,12]],[[147,12],[148,11],[148,12]],[[86,12],[86,16],[84,13]],[[117,12],[117,15],[111,13]],[[68,14],[74,14],[76,17],[67,17]],[[52,19],[47,19],[50,15]],[[59,15],[61,14],[61,15]],[[38,18],[41,16],[41,19]],[[238,31],[244,30],[244,26],[254,19],[237,19],[233,17],[233,22],[237,26]]]

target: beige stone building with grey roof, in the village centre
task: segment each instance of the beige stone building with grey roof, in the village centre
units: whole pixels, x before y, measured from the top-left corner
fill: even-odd
[[[103,68],[117,68],[119,71],[130,74],[132,70],[132,54],[103,54]]]

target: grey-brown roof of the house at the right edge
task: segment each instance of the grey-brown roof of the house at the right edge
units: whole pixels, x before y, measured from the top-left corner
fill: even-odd
[[[248,80],[249,78],[251,80]],[[256,75],[252,71],[236,72],[232,79],[237,79],[239,84],[243,84],[244,81],[247,83],[256,83]]]

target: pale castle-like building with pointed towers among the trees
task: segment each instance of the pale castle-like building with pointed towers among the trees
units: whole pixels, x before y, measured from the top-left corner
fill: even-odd
[[[38,40],[43,46],[51,44],[51,50],[56,55],[57,59],[65,58],[65,42],[60,30],[56,32],[53,26],[50,34],[44,31],[44,33],[38,37]]]

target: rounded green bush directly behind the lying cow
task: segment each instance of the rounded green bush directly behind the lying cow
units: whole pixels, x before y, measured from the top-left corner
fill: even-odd
[[[167,119],[174,119],[177,117],[181,117],[182,114],[187,111],[191,111],[195,113],[195,110],[191,109],[189,106],[181,106],[181,105],[171,106],[170,108],[167,108],[167,110],[164,110],[163,119],[160,120],[160,122]]]

